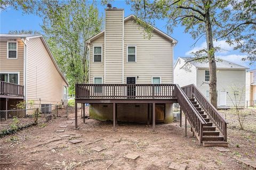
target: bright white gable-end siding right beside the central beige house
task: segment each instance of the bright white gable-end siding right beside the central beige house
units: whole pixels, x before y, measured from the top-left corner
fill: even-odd
[[[178,59],[174,67],[174,83],[179,84],[180,87],[196,85],[196,67],[189,63],[185,64],[185,61]]]

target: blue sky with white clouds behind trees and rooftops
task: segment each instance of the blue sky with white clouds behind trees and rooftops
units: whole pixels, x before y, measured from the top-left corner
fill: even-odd
[[[129,5],[125,4],[125,1],[114,1],[111,2],[112,6],[118,7],[118,8],[124,8],[125,16],[132,14],[132,11],[130,9]],[[100,13],[104,14],[105,6],[98,5]],[[16,11],[13,8],[9,7],[5,11],[0,12],[0,33],[8,33],[11,30],[37,30],[41,31],[41,25],[42,19],[39,18],[36,15],[32,14],[22,14],[22,11]],[[165,28],[165,21],[157,20],[155,22],[155,26],[164,31],[166,31]],[[173,38],[177,39],[179,43],[177,46],[174,47],[174,60],[177,60],[180,56],[189,56],[189,53],[195,50],[198,50],[202,47],[205,47],[205,39],[201,38],[195,47],[192,47],[195,43],[195,40],[191,38],[191,36],[188,33],[183,32],[184,29],[179,26],[174,29],[172,35]],[[217,54],[217,57],[220,57],[224,60],[228,60],[230,62],[234,62],[236,64],[240,64],[246,67],[249,67],[250,69],[256,69],[256,64],[249,65],[249,62],[243,62],[241,61],[241,58],[245,56],[245,54],[239,53],[237,50],[233,50],[233,47],[230,47],[225,43],[225,41],[217,41],[215,42],[215,46],[220,46],[223,50],[222,52],[219,52]]]

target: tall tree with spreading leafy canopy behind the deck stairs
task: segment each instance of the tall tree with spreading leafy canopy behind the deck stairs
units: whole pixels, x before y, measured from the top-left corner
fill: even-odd
[[[190,61],[209,63],[210,101],[217,108],[215,53],[221,48],[214,47],[213,41],[218,38],[224,39],[229,44],[235,44],[236,49],[241,49],[242,52],[250,52],[250,50],[255,52],[255,46],[254,48],[251,47],[246,40],[246,37],[254,36],[255,42],[255,6],[254,11],[250,13],[254,13],[253,16],[245,15],[245,12],[243,12],[244,7],[250,12],[248,5],[252,1],[255,0],[245,0],[241,3],[237,3],[235,0],[131,0],[126,2],[131,5],[135,14],[143,19],[143,21],[137,19],[137,22],[145,28],[149,38],[152,28],[147,23],[154,24],[155,19],[167,19],[166,27],[168,31],[172,32],[175,26],[182,25],[186,33],[190,33],[192,38],[197,39],[196,42],[202,37],[206,39],[207,47],[193,53],[195,58]],[[237,23],[238,21],[241,25]],[[247,30],[248,28],[250,29]],[[251,32],[251,30],[254,32]],[[228,33],[230,31],[231,33]],[[239,33],[242,33],[242,35],[238,41],[236,36]],[[231,36],[233,34],[235,38]],[[244,49],[243,44],[238,44],[241,42],[244,44],[247,42],[247,47],[251,48]],[[255,56],[255,53],[253,55]],[[252,56],[251,59],[253,59]]]

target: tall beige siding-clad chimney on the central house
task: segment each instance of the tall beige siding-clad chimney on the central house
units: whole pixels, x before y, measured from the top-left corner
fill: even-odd
[[[106,10],[105,83],[122,83],[123,17],[123,10]]]

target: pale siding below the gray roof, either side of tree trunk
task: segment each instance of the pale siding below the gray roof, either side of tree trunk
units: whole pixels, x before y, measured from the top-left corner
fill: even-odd
[[[205,69],[197,69],[197,87],[206,96],[206,90],[209,90],[209,84],[205,82]],[[203,83],[203,84],[202,84]],[[239,96],[242,96],[240,106],[243,107],[245,103],[245,70],[228,70],[217,69],[217,90],[226,90],[226,106],[233,107],[235,102],[234,91],[239,91]],[[238,100],[237,100],[238,102]],[[218,106],[220,106],[220,95],[218,95]],[[221,106],[225,107],[225,106]]]

